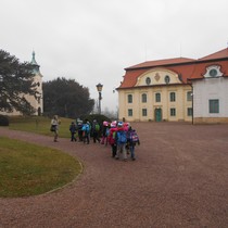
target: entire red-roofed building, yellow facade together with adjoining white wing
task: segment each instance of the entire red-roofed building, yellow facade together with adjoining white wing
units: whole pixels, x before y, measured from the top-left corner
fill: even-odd
[[[125,68],[119,119],[228,122],[228,49],[193,60],[148,61]]]

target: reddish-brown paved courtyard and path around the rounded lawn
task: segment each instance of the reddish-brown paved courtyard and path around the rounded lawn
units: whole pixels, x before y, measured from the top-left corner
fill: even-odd
[[[228,227],[228,125],[132,123],[137,160],[110,147],[8,130],[0,136],[60,149],[84,164],[72,185],[0,199],[0,227]]]

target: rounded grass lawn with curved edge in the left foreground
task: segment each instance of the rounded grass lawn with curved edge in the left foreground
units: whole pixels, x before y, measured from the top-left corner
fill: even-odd
[[[55,149],[0,137],[0,197],[42,194],[73,181],[80,163]]]

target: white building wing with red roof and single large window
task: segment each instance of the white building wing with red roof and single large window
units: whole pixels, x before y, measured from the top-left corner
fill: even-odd
[[[228,49],[199,59],[190,80],[194,123],[228,122]]]

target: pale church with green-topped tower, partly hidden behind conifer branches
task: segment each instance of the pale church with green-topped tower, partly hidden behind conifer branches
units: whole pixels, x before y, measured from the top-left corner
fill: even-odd
[[[33,52],[33,58],[30,63],[34,65],[33,73],[35,74],[34,81],[37,84],[37,91],[40,93],[38,97],[33,97],[25,94],[25,98],[29,101],[29,103],[35,107],[36,112],[34,115],[41,115],[43,113],[43,92],[42,92],[42,75],[39,71],[39,65],[36,62],[35,59],[35,52]],[[17,111],[13,112],[0,112],[2,115],[22,115],[22,113]]]

